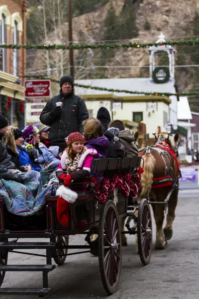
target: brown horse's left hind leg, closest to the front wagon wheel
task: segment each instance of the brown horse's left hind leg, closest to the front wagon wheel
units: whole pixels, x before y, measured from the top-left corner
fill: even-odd
[[[159,200],[161,201],[161,200]],[[165,205],[162,204],[152,204],[153,207],[153,214],[156,223],[156,242],[155,242],[155,249],[165,249],[165,235],[163,232],[163,221],[164,221],[164,212],[165,212]]]

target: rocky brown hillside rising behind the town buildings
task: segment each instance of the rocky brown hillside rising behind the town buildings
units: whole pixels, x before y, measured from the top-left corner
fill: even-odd
[[[196,11],[199,11],[198,0],[112,0],[103,5],[100,9],[80,15],[73,18],[73,39],[74,41],[87,42],[103,39],[106,28],[104,21],[107,17],[107,11],[110,12],[110,5],[113,6],[115,14],[120,15],[126,3],[131,5],[136,16],[136,25],[138,27],[138,40],[140,42],[156,41],[162,31],[166,40],[181,39],[184,36],[193,35],[194,17]],[[132,21],[134,21],[132,19]],[[146,21],[148,27],[146,27]],[[60,43],[68,40],[68,23],[63,23],[58,29],[59,32],[51,32],[48,35],[47,42]],[[61,32],[61,34],[60,34]],[[192,53],[194,47],[189,49],[177,50],[176,64],[194,64]],[[105,50],[106,51],[106,50]],[[109,51],[109,50],[107,50]],[[180,51],[180,54],[178,54]],[[196,49],[194,49],[196,52]],[[188,52],[188,53],[187,53]],[[190,53],[191,54],[190,54]],[[60,76],[60,51],[50,53],[50,67],[57,67],[58,70],[52,71],[51,75]],[[105,59],[104,50],[81,50],[75,51],[76,65],[81,65],[81,69],[76,69],[77,78],[93,77],[141,77],[148,75],[149,54],[147,49],[128,49],[112,50],[110,57]],[[182,59],[183,58],[183,59]],[[68,51],[64,51],[64,66],[69,65]],[[161,58],[160,58],[161,59]],[[159,60],[160,60],[159,59]],[[163,60],[164,61],[164,60]],[[106,66],[139,66],[136,68],[95,68],[94,65]],[[84,68],[90,67],[89,70]],[[31,63],[30,70],[46,69],[46,53],[40,51],[36,53],[34,62]],[[193,78],[196,75],[197,68],[176,68],[176,79],[180,90],[191,90]],[[66,69],[64,70],[64,72]],[[46,73],[40,73],[40,75]]]

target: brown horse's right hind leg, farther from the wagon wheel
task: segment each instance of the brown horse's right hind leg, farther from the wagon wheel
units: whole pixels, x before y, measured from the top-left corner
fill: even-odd
[[[170,240],[173,235],[173,222],[175,219],[175,209],[178,203],[178,189],[175,189],[168,201],[167,224],[164,228],[165,240]]]

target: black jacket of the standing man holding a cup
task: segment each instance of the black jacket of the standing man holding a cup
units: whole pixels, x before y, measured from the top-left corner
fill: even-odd
[[[51,111],[56,107],[57,102],[63,103],[63,111],[59,116],[53,118]],[[72,132],[82,134],[84,131],[82,122],[88,118],[89,112],[85,101],[72,93],[63,96],[61,90],[58,96],[47,102],[40,115],[41,123],[51,127],[49,140],[52,143],[65,143],[65,137]]]

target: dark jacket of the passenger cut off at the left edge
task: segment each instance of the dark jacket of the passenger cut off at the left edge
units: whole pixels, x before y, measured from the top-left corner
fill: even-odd
[[[0,134],[0,178],[6,180],[17,180],[17,175],[12,173],[9,169],[17,169],[11,161],[7,149],[1,141],[2,135]]]

